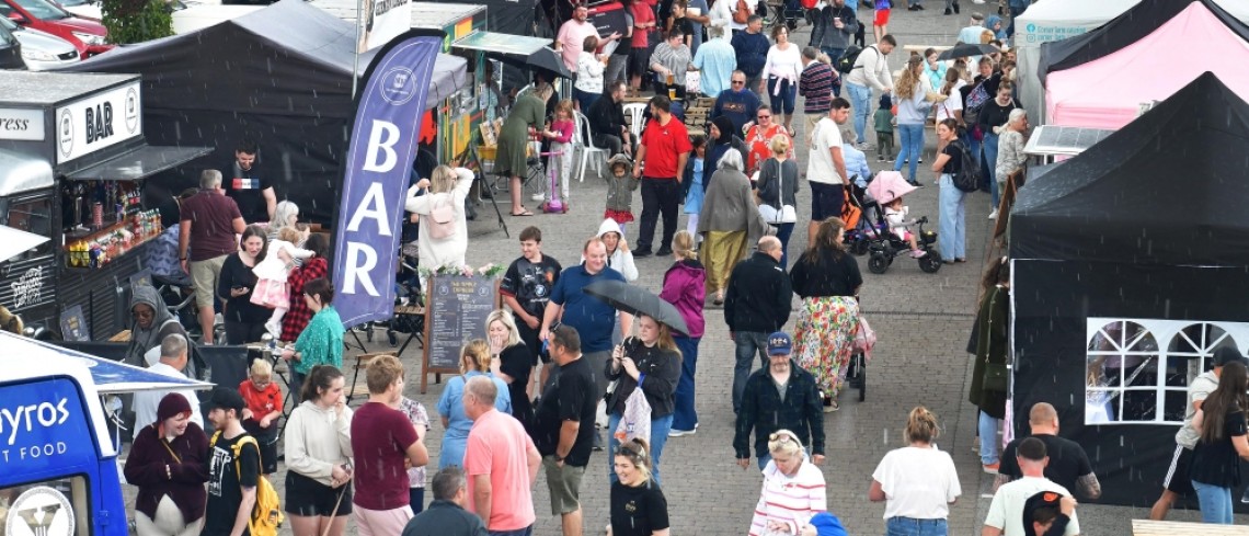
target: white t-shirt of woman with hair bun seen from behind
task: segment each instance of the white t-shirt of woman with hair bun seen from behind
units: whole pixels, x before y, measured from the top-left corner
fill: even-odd
[[[884,491],[884,519],[944,520],[949,504],[963,494],[954,460],[937,447],[889,451],[872,479]]]

